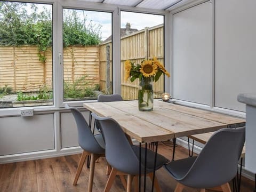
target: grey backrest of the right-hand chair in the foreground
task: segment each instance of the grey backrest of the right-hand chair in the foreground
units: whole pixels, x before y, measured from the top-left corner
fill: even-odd
[[[215,132],[180,180],[194,188],[211,188],[229,182],[236,175],[244,141],[245,127]]]

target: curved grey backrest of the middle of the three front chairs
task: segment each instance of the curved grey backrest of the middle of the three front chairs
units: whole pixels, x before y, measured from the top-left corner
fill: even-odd
[[[139,159],[135,155],[121,126],[112,118],[99,117],[94,113],[92,113],[92,116],[97,119],[105,139],[107,162],[124,173],[139,174]],[[144,167],[141,166],[141,169],[144,169]]]

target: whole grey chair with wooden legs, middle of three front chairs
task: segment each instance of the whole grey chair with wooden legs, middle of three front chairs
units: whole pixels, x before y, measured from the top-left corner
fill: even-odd
[[[126,191],[131,191],[134,176],[144,173],[145,168],[146,174],[151,180],[154,181],[156,190],[161,191],[157,179],[154,179],[153,172],[161,168],[164,164],[168,163],[169,160],[162,155],[155,154],[154,151],[149,149],[132,146],[121,126],[114,119],[99,117],[94,113],[92,113],[92,116],[97,119],[97,126],[99,126],[103,134],[103,139],[106,143],[106,159],[109,165],[112,167],[104,191],[110,190],[117,173],[128,175]],[[147,153],[147,156],[145,155],[145,152]],[[155,155],[157,155],[156,162],[154,161]],[[147,160],[146,165],[145,158]],[[141,170],[139,167],[141,167]],[[135,187],[137,188],[138,178],[135,177],[134,180],[136,182],[135,184],[137,184]]]

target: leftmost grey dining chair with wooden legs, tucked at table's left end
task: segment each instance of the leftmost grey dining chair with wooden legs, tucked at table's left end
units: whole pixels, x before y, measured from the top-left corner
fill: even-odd
[[[75,107],[69,107],[68,104],[65,104],[65,108],[71,110],[71,113],[75,118],[78,132],[78,143],[79,146],[81,146],[81,148],[83,149],[83,153],[79,160],[73,185],[77,184],[79,175],[83,169],[86,156],[87,158],[89,158],[89,156],[91,155],[89,185],[87,191],[92,191],[95,161],[99,157],[105,157],[105,142],[102,138],[102,134],[93,135],[84,116],[78,109],[76,109]]]

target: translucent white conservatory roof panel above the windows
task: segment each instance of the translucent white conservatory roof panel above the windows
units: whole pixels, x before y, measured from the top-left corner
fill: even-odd
[[[157,9],[170,11],[174,7],[183,5],[191,0],[84,0],[86,2],[97,2],[103,4],[126,5],[145,9]]]

